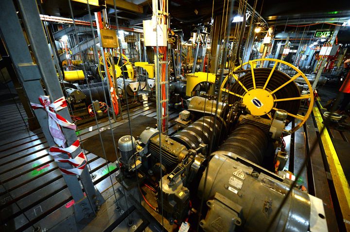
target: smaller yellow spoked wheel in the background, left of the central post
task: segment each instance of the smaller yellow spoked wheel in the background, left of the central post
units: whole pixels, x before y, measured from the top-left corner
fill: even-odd
[[[113,56],[110,53],[106,53],[106,66],[108,67],[109,75],[113,78],[113,62],[115,69],[115,78],[134,78],[134,68],[129,59],[124,55],[120,55],[119,52],[115,52]],[[105,78],[105,65],[103,57],[100,57],[98,71],[102,79]]]

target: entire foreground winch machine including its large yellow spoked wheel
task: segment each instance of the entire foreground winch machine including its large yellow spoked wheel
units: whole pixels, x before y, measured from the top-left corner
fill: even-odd
[[[275,169],[277,161],[287,159],[281,138],[308,116],[297,114],[300,100],[313,102],[312,95],[300,95],[293,83],[303,74],[298,71],[290,78],[275,70],[277,65],[271,70],[249,64],[251,71],[245,69],[233,86],[223,83],[228,101],[189,99],[188,110],[180,113],[188,121],[183,130],[167,136],[146,128],[137,140],[129,135],[119,140],[124,175],[117,180],[130,188],[133,178],[141,176],[141,183],[156,192],[140,189],[146,209],[164,215],[167,230],[187,222],[208,232],[327,231],[322,200],[291,187],[292,181]],[[275,78],[282,83],[274,88]],[[294,94],[288,103],[276,93],[284,86],[295,91],[288,93]],[[287,131],[291,117],[303,121]],[[157,206],[144,194],[156,198]],[[206,213],[198,215],[202,207]]]

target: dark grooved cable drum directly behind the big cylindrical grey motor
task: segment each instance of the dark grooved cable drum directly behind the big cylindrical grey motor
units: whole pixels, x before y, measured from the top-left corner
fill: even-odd
[[[218,151],[237,154],[257,165],[262,165],[268,148],[268,137],[259,127],[251,124],[241,124],[228,136]],[[215,152],[215,153],[216,153]]]

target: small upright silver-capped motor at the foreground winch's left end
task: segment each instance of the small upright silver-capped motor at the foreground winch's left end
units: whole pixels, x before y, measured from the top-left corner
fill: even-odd
[[[131,137],[130,135],[124,135],[118,141],[118,149],[121,157],[120,161],[123,163],[123,165],[129,166],[130,158],[136,151],[135,138]],[[132,162],[134,162],[134,160],[132,160]]]

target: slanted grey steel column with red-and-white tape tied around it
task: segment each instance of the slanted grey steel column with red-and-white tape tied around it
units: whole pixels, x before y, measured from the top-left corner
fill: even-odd
[[[39,103],[39,95],[49,95],[51,101],[63,96],[60,83],[57,78],[46,35],[39,17],[39,11],[35,0],[18,0],[18,8],[21,12],[22,21],[25,25],[26,33],[31,44],[31,50],[35,55],[36,63],[33,63],[31,53],[28,50],[27,42],[24,38],[22,27],[19,24],[18,14],[12,0],[0,1],[1,9],[5,9],[0,14],[0,31],[5,41],[9,55],[18,71],[18,77],[23,85],[28,99],[33,103]],[[41,85],[41,80],[45,84],[46,94]],[[68,108],[60,111],[60,115],[70,119]],[[42,131],[48,141],[49,146],[55,146],[53,137],[48,127],[48,115],[43,110],[35,110]],[[67,139],[67,146],[70,146],[76,139],[76,134],[70,129],[63,128],[63,133]],[[77,149],[71,154],[74,158],[81,152]],[[72,168],[69,164],[58,163],[63,168]],[[104,202],[101,194],[95,190],[88,168],[85,167],[80,176],[86,196],[84,196],[77,176],[63,174],[65,182],[70,190],[74,201],[74,212],[77,221],[89,218],[96,214],[96,207]],[[99,201],[96,202],[96,201]]]

